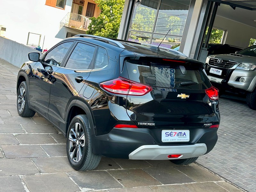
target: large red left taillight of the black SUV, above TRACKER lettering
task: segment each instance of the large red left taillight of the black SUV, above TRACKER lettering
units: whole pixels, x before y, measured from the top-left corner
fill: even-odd
[[[108,92],[122,95],[145,95],[152,91],[152,88],[148,85],[130,81],[123,77],[103,82],[100,86]]]

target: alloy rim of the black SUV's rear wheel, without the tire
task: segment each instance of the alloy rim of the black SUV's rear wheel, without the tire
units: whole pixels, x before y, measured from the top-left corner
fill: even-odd
[[[69,156],[75,163],[78,163],[85,149],[84,129],[80,123],[75,123],[68,135]]]

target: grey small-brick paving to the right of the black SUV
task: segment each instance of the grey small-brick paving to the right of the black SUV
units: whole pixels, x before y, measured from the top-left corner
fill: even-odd
[[[219,103],[218,142],[196,162],[247,191],[256,191],[256,111],[242,98],[227,97]]]

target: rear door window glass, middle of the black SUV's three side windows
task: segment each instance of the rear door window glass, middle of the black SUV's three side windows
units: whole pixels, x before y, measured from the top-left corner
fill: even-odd
[[[70,55],[66,68],[86,70],[92,62],[95,47],[78,43]]]

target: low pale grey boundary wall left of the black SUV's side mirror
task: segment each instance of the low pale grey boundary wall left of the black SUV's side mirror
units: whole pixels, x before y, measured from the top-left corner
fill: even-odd
[[[20,68],[28,61],[29,52],[42,52],[0,36],[0,58]]]

